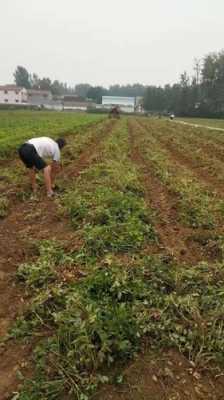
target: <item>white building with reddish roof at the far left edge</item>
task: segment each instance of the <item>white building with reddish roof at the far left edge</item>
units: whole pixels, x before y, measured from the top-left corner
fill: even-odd
[[[28,96],[25,88],[16,85],[0,86],[0,104],[24,104]]]

